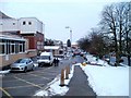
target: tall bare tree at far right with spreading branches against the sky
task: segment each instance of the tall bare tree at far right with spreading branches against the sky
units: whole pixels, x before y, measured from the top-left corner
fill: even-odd
[[[114,3],[104,8],[102,13],[100,25],[106,34],[112,34],[116,51],[116,65],[119,64],[120,56],[122,54],[122,41],[127,26],[127,5],[130,2]],[[129,32],[128,32],[129,33]]]

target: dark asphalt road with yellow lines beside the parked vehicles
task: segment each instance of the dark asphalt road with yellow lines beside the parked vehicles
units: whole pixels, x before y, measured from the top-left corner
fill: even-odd
[[[73,59],[61,60],[59,66],[36,68],[35,71],[28,71],[27,73],[9,73],[2,77],[0,90],[3,97],[32,97],[37,90],[46,87],[49,82],[59,75],[61,69],[66,68],[66,65],[82,61],[82,58],[75,57]]]

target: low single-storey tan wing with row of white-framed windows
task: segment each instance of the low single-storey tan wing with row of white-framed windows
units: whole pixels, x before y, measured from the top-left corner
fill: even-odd
[[[9,33],[10,34],[10,33]],[[27,40],[16,35],[0,33],[0,69],[26,56]]]

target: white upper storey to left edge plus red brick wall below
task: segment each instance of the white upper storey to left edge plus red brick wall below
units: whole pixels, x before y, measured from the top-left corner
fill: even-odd
[[[0,32],[13,33],[28,39],[29,50],[44,49],[44,27],[43,22],[36,17],[0,19]]]

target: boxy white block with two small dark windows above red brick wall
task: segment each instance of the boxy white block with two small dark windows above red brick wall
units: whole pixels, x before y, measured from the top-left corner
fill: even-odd
[[[29,50],[44,49],[44,24],[36,17],[22,17],[19,20],[20,34],[28,39]]]

